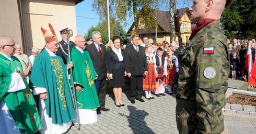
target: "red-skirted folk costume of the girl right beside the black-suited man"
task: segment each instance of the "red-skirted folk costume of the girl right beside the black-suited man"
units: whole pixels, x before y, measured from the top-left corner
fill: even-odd
[[[143,90],[145,91],[146,98],[154,98],[151,91],[156,90],[156,57],[153,53],[146,53],[148,74],[143,77]]]

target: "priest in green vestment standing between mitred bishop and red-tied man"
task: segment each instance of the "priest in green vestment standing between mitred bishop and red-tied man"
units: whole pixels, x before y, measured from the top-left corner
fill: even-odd
[[[100,106],[94,83],[98,75],[88,51],[84,49],[84,36],[77,35],[75,44],[71,51],[71,60],[74,64],[71,78],[74,77],[80,124],[92,124],[97,122],[96,109]],[[73,86],[72,81],[71,86]]]

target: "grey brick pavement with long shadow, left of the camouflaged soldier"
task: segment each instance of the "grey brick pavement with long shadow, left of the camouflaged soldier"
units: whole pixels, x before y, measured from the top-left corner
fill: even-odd
[[[109,112],[101,112],[98,122],[94,124],[72,126],[67,133],[179,133],[176,125],[174,95],[155,97],[145,102],[135,100],[132,104],[126,97],[128,91],[122,93],[125,106],[114,105],[113,94],[106,96],[106,108]],[[126,95],[125,95],[126,94]]]

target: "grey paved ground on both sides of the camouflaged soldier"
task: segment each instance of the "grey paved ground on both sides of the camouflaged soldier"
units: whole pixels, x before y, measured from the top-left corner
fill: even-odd
[[[239,83],[239,84],[237,84]],[[245,82],[229,80],[229,87],[239,88]],[[174,95],[155,97],[145,102],[135,100],[132,104],[127,97],[129,91],[122,93],[125,106],[114,105],[112,93],[106,96],[106,108],[109,112],[101,112],[95,124],[72,126],[67,133],[179,133],[176,125]],[[225,130],[223,133],[256,133],[256,116],[236,113],[224,113]]]

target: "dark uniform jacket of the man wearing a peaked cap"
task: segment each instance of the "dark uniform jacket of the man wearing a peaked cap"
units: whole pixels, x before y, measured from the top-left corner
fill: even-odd
[[[67,56],[68,56],[68,47],[67,47],[67,43],[62,39],[60,42],[60,45],[62,46],[64,52],[67,54],[65,54],[62,49],[61,46],[59,47],[58,51],[56,52],[58,55],[61,56],[61,58],[63,59],[64,64],[67,64]],[[72,47],[75,47],[76,44],[72,41],[70,41],[70,46],[69,46],[69,50],[72,50]]]

